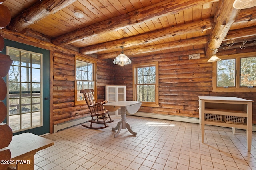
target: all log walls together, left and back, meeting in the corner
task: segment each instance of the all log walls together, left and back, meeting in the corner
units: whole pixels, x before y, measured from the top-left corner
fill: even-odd
[[[8,30],[1,29],[0,33],[13,41],[51,51],[51,133],[55,124],[89,115],[86,105],[74,105],[75,55],[96,60],[99,102],[105,99],[106,85],[126,85],[126,100],[133,100],[132,64],[153,61],[159,62],[160,106],[144,107],[139,111],[198,118],[198,96],[236,96],[256,101],[255,92],[212,92],[212,63],[207,62],[204,49],[132,58],[132,64],[117,66],[112,59],[88,57]],[[251,51],[256,51],[256,48],[246,48],[246,52]],[[188,55],[195,53],[200,53],[200,59],[189,60]],[[222,52],[218,53],[224,55]],[[239,52],[232,49],[226,52],[228,53]],[[256,124],[256,102],[253,103],[253,123]]]

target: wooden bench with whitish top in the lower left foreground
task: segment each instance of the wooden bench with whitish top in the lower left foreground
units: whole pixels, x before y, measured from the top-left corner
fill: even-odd
[[[34,135],[32,133],[22,133],[12,137],[8,148],[11,151],[10,168],[16,170],[34,170],[34,155],[39,150],[54,145],[54,141]]]

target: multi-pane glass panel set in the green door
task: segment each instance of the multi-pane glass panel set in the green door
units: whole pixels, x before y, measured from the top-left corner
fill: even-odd
[[[8,125],[13,132],[42,126],[42,54],[7,47],[13,60],[8,74]]]

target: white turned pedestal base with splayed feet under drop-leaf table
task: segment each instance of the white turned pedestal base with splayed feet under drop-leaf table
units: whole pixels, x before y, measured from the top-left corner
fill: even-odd
[[[132,135],[137,135],[137,132],[132,131],[132,127],[130,127],[129,123],[126,122],[126,108],[121,107],[121,121],[117,123],[116,127],[113,127],[112,130],[116,131],[118,130],[115,134],[114,137],[117,137],[118,134],[120,133],[121,129],[128,129]]]

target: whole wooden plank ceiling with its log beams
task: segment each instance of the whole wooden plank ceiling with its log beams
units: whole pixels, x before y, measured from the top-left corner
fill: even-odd
[[[234,0],[6,0],[6,29],[102,59],[255,45],[256,7]],[[74,11],[84,13],[83,18]],[[246,46],[246,47],[247,47]]]

